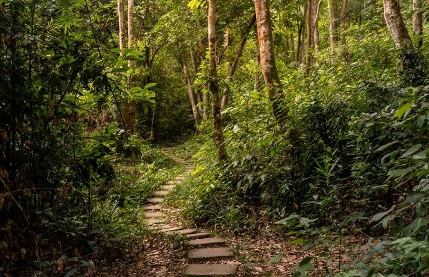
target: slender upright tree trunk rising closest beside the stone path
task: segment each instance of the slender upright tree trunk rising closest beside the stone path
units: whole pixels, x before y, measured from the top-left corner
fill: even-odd
[[[212,96],[213,128],[217,146],[217,161],[227,159],[223,139],[221,107],[219,103],[219,84],[217,82],[216,59],[216,0],[208,0],[208,48],[210,51],[210,94]]]

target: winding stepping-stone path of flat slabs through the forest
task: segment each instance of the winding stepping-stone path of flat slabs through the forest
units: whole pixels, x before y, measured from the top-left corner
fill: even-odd
[[[167,156],[177,163],[185,166],[185,174],[192,172],[192,166],[188,161],[180,159],[172,154],[174,148],[164,148]],[[185,179],[185,174],[179,175],[172,181],[167,181],[161,186],[161,190],[154,192],[152,198],[147,199],[145,220],[155,232],[165,235],[180,235],[185,239],[185,248],[188,250],[188,265],[183,276],[185,277],[211,277],[211,276],[237,276],[237,265],[212,263],[214,261],[232,260],[234,253],[227,247],[222,238],[212,238],[210,233],[197,229],[183,229],[181,226],[169,224],[166,215],[162,212],[164,196],[174,188],[176,184]],[[210,262],[210,263],[208,263]]]

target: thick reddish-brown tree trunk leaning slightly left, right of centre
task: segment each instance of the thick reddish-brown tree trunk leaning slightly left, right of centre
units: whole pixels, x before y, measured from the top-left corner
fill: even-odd
[[[269,0],[255,0],[255,11],[262,75],[264,75],[268,96],[273,105],[274,116],[277,122],[282,123],[285,119],[285,114],[280,106],[282,93],[279,91],[280,78],[277,73],[277,66],[275,65],[274,58]]]

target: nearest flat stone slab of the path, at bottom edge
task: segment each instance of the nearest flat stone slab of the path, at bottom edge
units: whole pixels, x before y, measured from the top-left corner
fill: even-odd
[[[188,265],[183,273],[185,277],[237,276],[237,265]]]

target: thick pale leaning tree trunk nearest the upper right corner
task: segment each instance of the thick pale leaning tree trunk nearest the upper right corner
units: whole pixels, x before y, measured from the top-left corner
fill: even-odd
[[[412,48],[410,34],[401,14],[398,0],[383,0],[384,19],[396,48]]]

